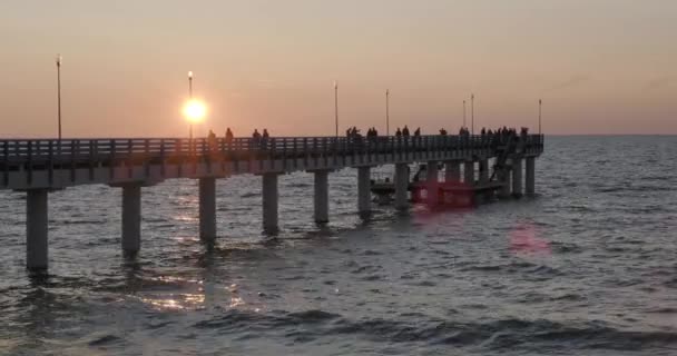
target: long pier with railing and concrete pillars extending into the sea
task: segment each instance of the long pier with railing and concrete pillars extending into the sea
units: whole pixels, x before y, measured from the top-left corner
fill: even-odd
[[[276,137],[218,139],[36,139],[0,140],[0,189],[24,191],[26,264],[48,267],[49,192],[79,185],[108,185],[121,190],[121,249],[136,255],[141,247],[143,188],[167,179],[198,180],[199,236],[213,243],[216,231],[216,179],[253,175],[262,180],[263,230],[278,233],[279,175],[307,171],[314,176],[314,220],[330,220],[328,175],[357,169],[356,212],[371,212],[371,169],[394,165],[395,208],[410,206],[410,166],[424,162],[431,205],[442,204],[445,191],[520,197],[536,192],[536,158],[543,136],[513,135],[414,137]],[[524,164],[522,164],[524,162]],[[439,167],[443,178],[440,179]],[[462,182],[452,189],[452,182]],[[451,184],[451,185],[450,185]],[[526,187],[524,189],[522,189]],[[441,189],[440,189],[441,188]],[[413,191],[412,191],[413,194]]]

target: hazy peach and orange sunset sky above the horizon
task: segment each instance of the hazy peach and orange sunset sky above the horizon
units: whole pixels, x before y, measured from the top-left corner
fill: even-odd
[[[674,0],[2,0],[0,137],[677,134]]]

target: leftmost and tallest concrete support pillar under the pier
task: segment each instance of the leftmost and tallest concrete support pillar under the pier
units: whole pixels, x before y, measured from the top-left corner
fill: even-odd
[[[29,189],[26,198],[26,267],[47,269],[47,189]]]

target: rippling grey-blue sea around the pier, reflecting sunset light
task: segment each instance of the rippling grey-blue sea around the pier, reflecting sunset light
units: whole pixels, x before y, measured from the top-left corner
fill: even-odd
[[[537,196],[356,214],[356,171],[143,188],[141,250],[121,191],[49,195],[48,275],[24,269],[24,194],[0,191],[0,355],[677,355],[677,137],[546,137]],[[376,175],[387,176],[392,167]]]

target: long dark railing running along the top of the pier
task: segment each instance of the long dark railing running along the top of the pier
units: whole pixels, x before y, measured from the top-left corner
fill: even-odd
[[[519,136],[522,147],[541,148],[542,135]],[[364,155],[497,148],[498,136],[271,137],[0,140],[0,165],[66,165],[79,161],[189,158],[275,159],[316,155]]]

